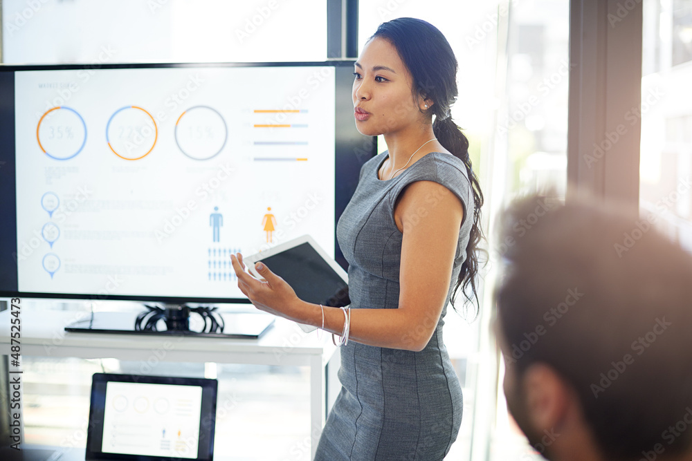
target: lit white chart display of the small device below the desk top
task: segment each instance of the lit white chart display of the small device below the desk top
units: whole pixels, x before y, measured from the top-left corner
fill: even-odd
[[[197,458],[202,388],[109,382],[104,453]]]

